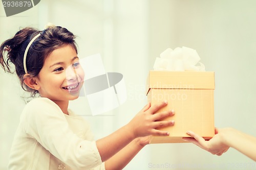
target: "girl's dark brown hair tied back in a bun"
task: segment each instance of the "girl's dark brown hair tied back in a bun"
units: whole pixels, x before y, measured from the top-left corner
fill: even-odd
[[[27,71],[32,77],[36,77],[39,74],[46,58],[57,48],[70,44],[77,53],[76,36],[66,28],[59,26],[51,26],[43,31],[24,28],[18,31],[13,38],[3,42],[0,46],[1,66],[5,71],[13,72],[10,66],[10,63],[13,63],[22,88],[25,91],[31,91],[33,96],[38,91],[29,88],[24,83],[24,75],[26,73],[23,66],[23,58],[29,42],[39,33],[40,36],[31,44],[26,59]],[[7,54],[5,55],[6,52]]]

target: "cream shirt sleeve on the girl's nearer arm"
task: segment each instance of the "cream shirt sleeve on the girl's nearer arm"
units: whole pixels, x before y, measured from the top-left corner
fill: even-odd
[[[25,107],[25,130],[55,157],[76,169],[92,169],[102,161],[95,141],[80,139],[70,129],[61,109],[47,98]]]

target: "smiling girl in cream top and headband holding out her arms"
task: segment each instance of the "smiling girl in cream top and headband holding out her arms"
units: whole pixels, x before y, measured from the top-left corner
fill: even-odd
[[[148,103],[127,125],[94,141],[89,125],[68,109],[83,84],[75,36],[65,28],[43,31],[25,28],[0,46],[0,63],[10,63],[23,89],[40,97],[20,115],[12,144],[9,169],[122,169],[148,144],[148,135],[167,136],[158,127],[174,111],[157,112],[167,102]]]

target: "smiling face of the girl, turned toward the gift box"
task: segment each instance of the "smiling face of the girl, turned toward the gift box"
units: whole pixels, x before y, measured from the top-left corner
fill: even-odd
[[[82,88],[84,72],[71,45],[54,50],[45,60],[37,76],[39,94],[54,101],[77,99]]]

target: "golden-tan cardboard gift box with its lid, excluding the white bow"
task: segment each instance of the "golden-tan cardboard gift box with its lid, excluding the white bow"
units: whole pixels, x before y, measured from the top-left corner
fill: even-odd
[[[214,126],[214,72],[210,71],[150,71],[146,95],[151,105],[164,100],[167,106],[159,110],[175,110],[175,115],[163,120],[175,120],[175,125],[159,128],[169,136],[150,136],[150,143],[184,143],[188,130],[210,139]]]

